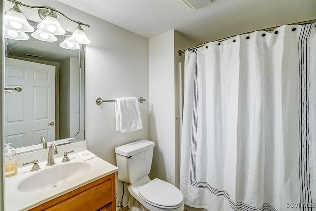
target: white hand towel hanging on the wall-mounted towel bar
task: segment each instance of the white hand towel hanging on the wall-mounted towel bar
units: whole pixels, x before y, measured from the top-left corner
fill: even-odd
[[[143,129],[138,99],[121,97],[115,100],[116,130],[124,133]]]

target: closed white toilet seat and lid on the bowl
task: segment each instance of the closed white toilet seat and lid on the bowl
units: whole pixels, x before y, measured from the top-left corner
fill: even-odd
[[[183,195],[178,188],[157,178],[140,187],[139,196],[158,208],[174,209],[183,203]]]

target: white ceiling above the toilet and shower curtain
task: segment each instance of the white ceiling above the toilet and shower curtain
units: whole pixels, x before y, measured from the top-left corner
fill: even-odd
[[[182,0],[59,1],[146,38],[174,29],[198,44],[316,19],[316,0],[216,0],[196,10]]]

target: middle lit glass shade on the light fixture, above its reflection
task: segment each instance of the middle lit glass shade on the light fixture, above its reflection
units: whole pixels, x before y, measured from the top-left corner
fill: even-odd
[[[63,27],[61,27],[59,21],[49,14],[43,19],[41,23],[37,25],[37,28],[42,32],[54,35],[63,35],[66,33]]]

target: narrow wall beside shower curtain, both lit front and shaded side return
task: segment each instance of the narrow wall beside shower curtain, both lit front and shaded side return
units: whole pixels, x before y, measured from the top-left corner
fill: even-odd
[[[179,49],[191,47],[190,41],[171,30],[149,39],[150,140],[155,142],[151,178],[160,178],[179,187],[181,80]],[[182,65],[184,67],[184,65]],[[183,69],[183,68],[182,68]],[[180,102],[178,102],[180,100]]]

